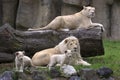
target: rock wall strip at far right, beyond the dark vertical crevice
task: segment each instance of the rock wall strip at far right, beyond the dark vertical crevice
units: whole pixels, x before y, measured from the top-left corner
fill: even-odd
[[[111,39],[120,40],[120,1],[116,0],[111,9]]]

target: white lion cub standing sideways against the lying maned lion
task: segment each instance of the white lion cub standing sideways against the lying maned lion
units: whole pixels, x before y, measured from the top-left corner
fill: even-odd
[[[52,55],[51,58],[50,58],[50,62],[48,64],[49,70],[55,64],[60,64],[60,67],[63,66],[63,64],[69,64],[69,60],[70,60],[71,56],[72,56],[71,50],[65,51],[64,54]]]

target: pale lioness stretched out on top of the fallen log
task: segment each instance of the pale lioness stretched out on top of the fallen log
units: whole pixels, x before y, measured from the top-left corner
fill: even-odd
[[[72,29],[79,29],[79,28],[93,28],[93,27],[100,27],[104,31],[104,27],[100,23],[93,23],[91,18],[95,16],[95,8],[88,6],[83,7],[78,13],[73,15],[65,15],[65,16],[58,16],[54,20],[52,20],[47,26],[37,29],[28,30],[72,30]]]

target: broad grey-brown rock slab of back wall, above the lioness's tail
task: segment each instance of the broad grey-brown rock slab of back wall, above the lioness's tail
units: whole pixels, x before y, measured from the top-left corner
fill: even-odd
[[[59,2],[59,0],[19,0],[16,28],[26,30],[47,25],[60,14]]]

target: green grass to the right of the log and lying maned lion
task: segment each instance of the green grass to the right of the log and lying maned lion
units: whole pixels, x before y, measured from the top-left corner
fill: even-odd
[[[102,66],[113,70],[113,76],[120,78],[120,41],[103,40],[105,55],[85,59],[92,65],[89,68],[99,69]],[[85,66],[77,66],[77,68]]]

